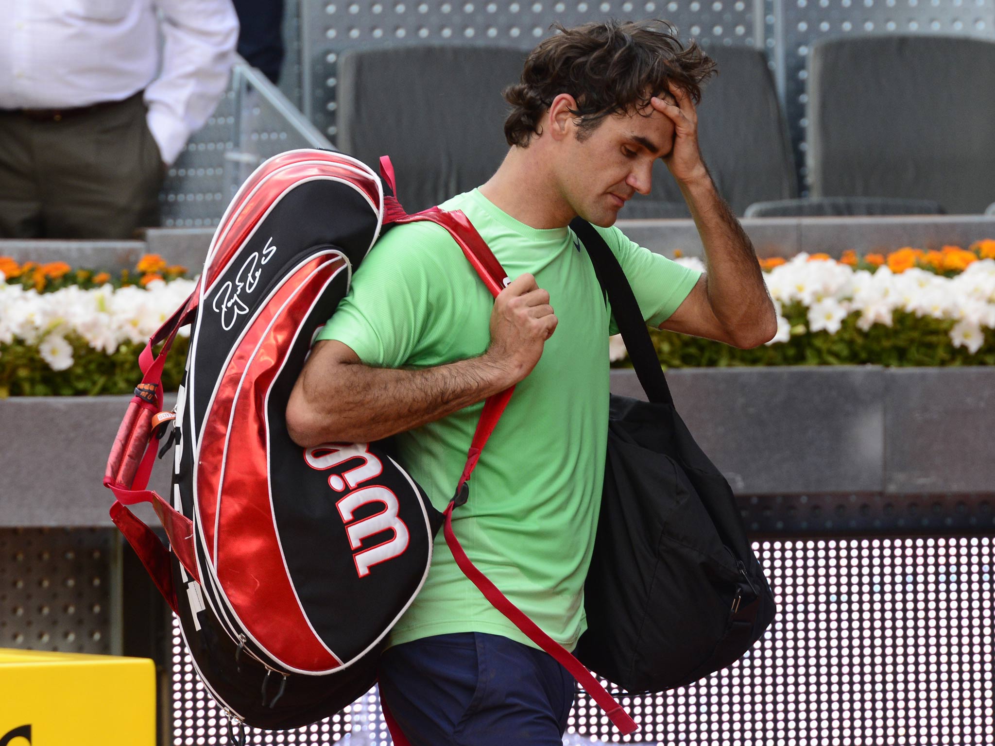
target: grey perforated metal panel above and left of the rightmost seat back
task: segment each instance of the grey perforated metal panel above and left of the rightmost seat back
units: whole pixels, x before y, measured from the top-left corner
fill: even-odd
[[[797,161],[805,163],[808,121],[806,63],[819,39],[869,34],[943,34],[995,39],[993,0],[767,0],[774,29],[778,91],[791,129]],[[956,75],[951,70],[950,75]],[[841,105],[846,105],[845,101]],[[808,183],[808,168],[799,171]]]

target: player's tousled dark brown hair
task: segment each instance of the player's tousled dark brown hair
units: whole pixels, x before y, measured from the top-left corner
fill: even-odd
[[[666,21],[605,21],[557,31],[528,55],[521,80],[504,89],[511,112],[504,121],[508,145],[528,147],[540,134],[542,115],[560,93],[577,101],[578,139],[605,116],[641,111],[675,83],[697,104],[701,84],[717,72],[701,48],[684,45]]]

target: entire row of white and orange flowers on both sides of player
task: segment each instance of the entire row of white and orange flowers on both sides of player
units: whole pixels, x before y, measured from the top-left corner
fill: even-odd
[[[840,261],[801,254],[761,267],[778,311],[774,339],[739,350],[653,330],[665,367],[995,364],[995,241]],[[0,398],[130,393],[138,353],[194,287],[184,268],[154,255],[117,277],[0,258],[0,276]],[[182,377],[188,333],[167,361],[167,390]],[[627,365],[620,338],[611,357]]]

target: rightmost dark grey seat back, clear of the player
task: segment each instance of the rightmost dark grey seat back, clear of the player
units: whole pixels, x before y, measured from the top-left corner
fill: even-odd
[[[809,61],[813,197],[995,199],[995,43],[936,36],[820,42]]]

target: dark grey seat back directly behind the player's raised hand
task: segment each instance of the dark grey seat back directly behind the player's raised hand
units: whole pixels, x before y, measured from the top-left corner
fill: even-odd
[[[736,215],[754,202],[797,197],[788,125],[763,53],[742,46],[709,47],[706,52],[718,65],[718,75],[701,93],[698,143],[719,193]],[[653,168],[650,196],[637,195],[630,205],[644,200],[684,204],[662,161]],[[630,217],[628,209],[620,217]],[[687,208],[683,212],[691,215]]]

